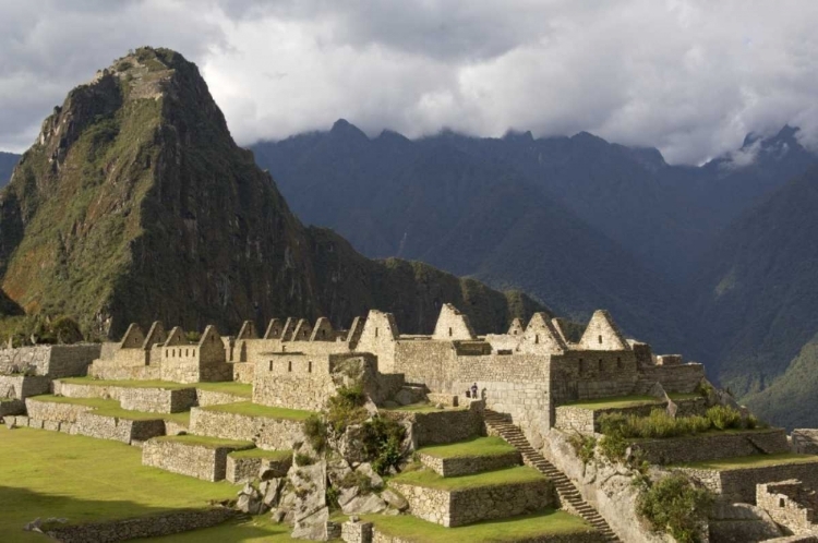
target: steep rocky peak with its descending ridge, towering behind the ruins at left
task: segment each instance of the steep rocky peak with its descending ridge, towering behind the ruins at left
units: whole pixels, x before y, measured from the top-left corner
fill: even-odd
[[[0,195],[0,274],[27,312],[74,314],[112,336],[154,319],[232,330],[323,314],[347,326],[373,306],[430,331],[444,302],[481,307],[469,316],[485,331],[541,309],[429,266],[369,261],[304,228],[232,141],[196,67],[151,48],[43,123]]]

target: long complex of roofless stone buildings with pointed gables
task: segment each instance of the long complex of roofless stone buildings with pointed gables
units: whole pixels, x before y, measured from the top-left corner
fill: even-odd
[[[261,336],[261,337],[260,337]],[[554,426],[560,405],[612,396],[693,393],[705,378],[701,364],[678,355],[657,357],[647,343],[626,339],[606,311],[597,311],[578,342],[557,319],[534,314],[515,319],[504,334],[479,337],[468,316],[441,307],[431,336],[404,336],[395,317],[372,310],[348,330],[327,318],[274,318],[263,335],[246,322],[233,338],[208,326],[196,343],[180,328],[166,334],[155,323],[147,335],[132,325],[122,341],[106,343],[89,370],[100,378],[161,378],[180,383],[253,383],[256,403],[321,409],[335,394],[335,367],[365,360],[380,379],[423,385],[430,393],[458,396],[477,383],[486,408],[512,415],[534,443]]]

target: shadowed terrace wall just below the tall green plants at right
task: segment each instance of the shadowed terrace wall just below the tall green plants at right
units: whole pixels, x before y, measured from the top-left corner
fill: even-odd
[[[639,439],[635,447],[651,463],[686,463],[753,455],[777,455],[790,451],[783,429],[756,430],[741,433],[708,432],[706,434],[665,439]]]

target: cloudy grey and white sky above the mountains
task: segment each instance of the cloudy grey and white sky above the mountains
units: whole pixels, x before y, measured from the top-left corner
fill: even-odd
[[[588,131],[698,164],[818,143],[818,1],[0,0],[0,149],[129,49],[196,62],[241,144],[328,130]]]

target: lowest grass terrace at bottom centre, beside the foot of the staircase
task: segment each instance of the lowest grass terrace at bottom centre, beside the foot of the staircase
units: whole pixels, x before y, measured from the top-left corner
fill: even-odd
[[[593,531],[581,518],[553,509],[458,528],[444,528],[409,515],[364,515],[363,519],[380,532],[417,543],[501,543]]]

